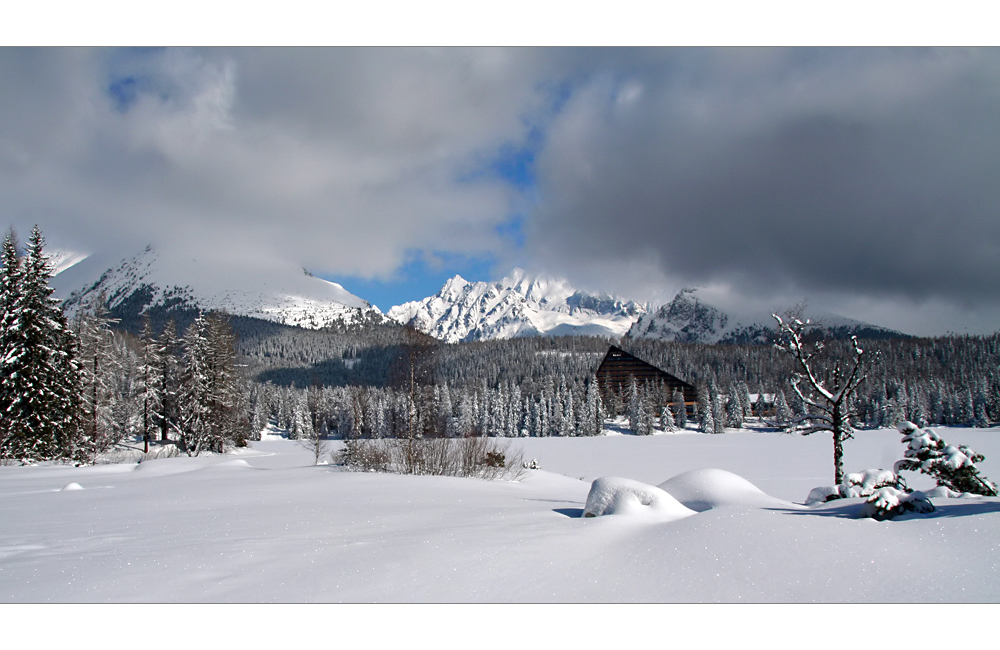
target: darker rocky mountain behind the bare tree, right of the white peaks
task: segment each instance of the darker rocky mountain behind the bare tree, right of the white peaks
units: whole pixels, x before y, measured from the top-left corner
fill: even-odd
[[[836,314],[807,314],[817,323],[814,334],[832,338],[905,338],[908,335]],[[684,343],[769,343],[775,322],[770,312],[725,313],[706,303],[697,289],[682,289],[666,305],[641,314],[626,334]]]

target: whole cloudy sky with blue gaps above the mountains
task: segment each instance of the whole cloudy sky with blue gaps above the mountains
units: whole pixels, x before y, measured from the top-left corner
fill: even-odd
[[[0,224],[989,333],[998,116],[995,48],[2,48]]]

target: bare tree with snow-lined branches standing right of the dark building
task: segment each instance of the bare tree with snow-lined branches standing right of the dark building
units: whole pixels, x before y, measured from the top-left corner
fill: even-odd
[[[858,345],[858,338],[852,336],[851,359],[838,359],[833,368],[823,373],[816,357],[823,350],[823,342],[805,342],[804,335],[811,323],[801,320],[801,310],[793,310],[785,318],[777,314],[771,315],[778,321],[780,342],[776,347],[792,355],[796,361],[797,370],[792,376],[792,389],[805,403],[808,411],[796,416],[791,428],[805,436],[818,431],[833,434],[834,484],[840,485],[844,481],[844,441],[852,438],[850,420],[856,415],[850,398],[865,380],[865,375],[861,374],[864,350]]]

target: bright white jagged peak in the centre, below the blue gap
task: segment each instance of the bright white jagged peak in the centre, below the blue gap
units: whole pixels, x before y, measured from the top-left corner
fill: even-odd
[[[646,308],[514,269],[500,282],[467,282],[456,275],[436,295],[393,307],[388,316],[457,343],[540,335],[620,337]]]

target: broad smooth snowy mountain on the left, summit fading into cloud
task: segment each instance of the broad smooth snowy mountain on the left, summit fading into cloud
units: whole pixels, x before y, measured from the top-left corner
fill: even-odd
[[[111,309],[177,305],[313,329],[380,314],[339,284],[282,262],[247,265],[184,253],[161,255],[152,246],[113,264],[101,255],[56,253],[50,260],[60,271],[52,285],[69,316],[102,292]]]

